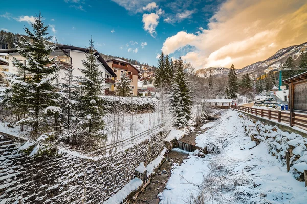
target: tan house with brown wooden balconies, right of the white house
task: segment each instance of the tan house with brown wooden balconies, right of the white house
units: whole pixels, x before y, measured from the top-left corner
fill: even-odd
[[[126,62],[119,58],[107,60],[106,62],[116,74],[116,78],[114,78],[116,82],[120,80],[121,74],[126,72],[129,78],[132,80],[131,88],[133,91],[131,94],[134,96],[137,96],[138,95],[138,78],[139,78],[138,74],[140,73],[140,71],[136,67],[134,67],[132,64],[130,64],[129,62]]]

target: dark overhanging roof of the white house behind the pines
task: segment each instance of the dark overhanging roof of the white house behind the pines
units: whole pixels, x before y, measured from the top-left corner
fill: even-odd
[[[75,47],[75,46],[71,46],[71,45],[63,45],[63,44],[59,44],[56,45],[56,49],[61,49],[61,50],[65,50],[65,49],[70,49],[70,50],[78,50],[78,51],[82,51],[82,52],[87,52],[89,51],[89,49],[87,48],[82,48],[82,47]],[[0,53],[17,53],[18,50],[16,48],[14,49],[0,49]],[[99,62],[101,62],[101,64],[104,66],[104,68],[107,70],[107,72],[109,72],[109,74],[112,75],[112,77],[116,77],[116,74],[114,73],[114,71],[109,67],[109,65],[105,62],[105,60],[102,58],[102,56],[99,54],[99,52],[96,50],[95,51],[95,55],[98,56],[98,60]]]

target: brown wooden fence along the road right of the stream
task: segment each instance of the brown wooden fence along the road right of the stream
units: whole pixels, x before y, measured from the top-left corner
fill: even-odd
[[[289,124],[291,127],[296,126],[307,130],[307,114],[288,111],[272,111],[269,109],[257,109],[246,106],[231,105],[231,108],[249,113],[261,118],[276,120],[277,122]]]

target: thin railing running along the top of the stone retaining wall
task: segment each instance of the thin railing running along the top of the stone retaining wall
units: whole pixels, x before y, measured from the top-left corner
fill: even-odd
[[[154,126],[152,127],[151,129],[148,129],[146,131],[143,131],[141,133],[138,133],[136,135],[134,135],[133,137],[129,137],[127,139],[124,139],[122,141],[119,141],[119,142],[115,142],[115,143],[112,143],[112,144],[108,144],[108,145],[105,145],[103,147],[100,147],[100,148],[97,148],[97,149],[94,149],[94,150],[91,150],[91,151],[87,151],[85,152],[85,154],[87,155],[93,155],[93,154],[97,154],[99,152],[102,152],[102,151],[107,151],[107,150],[110,150],[110,149],[114,149],[114,148],[117,148],[117,147],[121,147],[121,148],[124,148],[126,146],[128,146],[130,143],[132,142],[138,142],[139,139],[144,136],[144,135],[149,135],[150,132],[154,132],[156,130],[158,130],[160,127],[162,126],[162,124],[159,124],[157,126]]]

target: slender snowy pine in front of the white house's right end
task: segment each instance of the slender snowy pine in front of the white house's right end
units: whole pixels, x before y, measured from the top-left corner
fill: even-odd
[[[86,60],[82,60],[84,68],[78,68],[82,75],[77,77],[77,142],[85,143],[87,146],[95,146],[98,139],[105,138],[104,111],[100,97],[105,89],[104,78],[95,53],[94,40],[91,39],[85,53]]]

